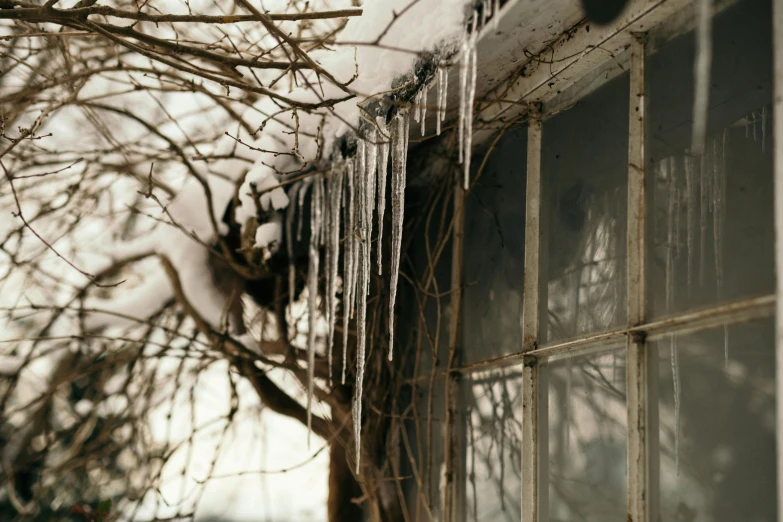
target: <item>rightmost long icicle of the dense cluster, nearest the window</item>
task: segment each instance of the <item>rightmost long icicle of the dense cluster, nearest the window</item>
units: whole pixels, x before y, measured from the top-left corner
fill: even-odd
[[[400,271],[402,223],[405,211],[405,166],[408,157],[408,114],[401,110],[393,120],[392,130],[392,248],[391,282],[389,284],[389,360],[394,350],[394,302],[397,299],[397,278]]]

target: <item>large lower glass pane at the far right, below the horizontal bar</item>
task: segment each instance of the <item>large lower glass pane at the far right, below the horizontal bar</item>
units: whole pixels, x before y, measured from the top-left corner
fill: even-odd
[[[652,344],[662,522],[777,520],[774,333],[770,319]]]

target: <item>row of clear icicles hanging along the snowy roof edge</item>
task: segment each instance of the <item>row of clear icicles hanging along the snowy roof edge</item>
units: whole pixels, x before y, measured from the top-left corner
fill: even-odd
[[[489,3],[489,2],[487,2]],[[495,2],[496,9],[499,3]],[[473,101],[476,93],[476,19],[474,13],[470,32],[466,32],[459,49],[462,62],[459,85],[459,161],[464,166],[464,186],[468,188],[470,172],[470,151],[472,138]],[[427,98],[431,89],[436,89],[435,125],[436,134],[446,117],[446,96],[448,92],[448,70],[439,66],[434,77],[426,83],[413,100],[414,120],[420,124],[424,135],[427,116]],[[379,117],[376,125],[370,127],[357,142],[356,155],[336,161],[325,174],[316,174],[292,186],[286,219],[286,243],[288,247],[288,286],[290,303],[295,295],[294,230],[295,213],[298,212],[297,240],[301,240],[302,216],[307,190],[310,197],[310,244],[308,247],[307,307],[309,333],[307,338],[308,382],[307,382],[307,427],[312,432],[312,403],[314,391],[315,345],[318,320],[318,280],[320,250],[325,248],[324,268],[325,314],[328,323],[327,358],[331,384],[334,332],[337,322],[338,281],[340,245],[342,244],[342,311],[343,311],[343,357],[342,383],[345,384],[345,364],[348,348],[349,321],[356,320],[357,353],[356,385],[352,404],[354,440],[356,444],[356,469],[361,462],[361,418],[362,387],[367,349],[367,296],[370,291],[370,254],[373,242],[373,221],[377,216],[377,242],[383,242],[383,222],[386,211],[386,186],[388,166],[391,163],[391,259],[389,281],[389,360],[394,347],[394,305],[397,295],[397,281],[400,269],[400,248],[405,210],[406,162],[408,156],[408,131],[410,126],[409,107],[397,109],[387,124]],[[343,235],[340,234],[340,225]],[[378,274],[382,274],[382,248],[376,249]]]

